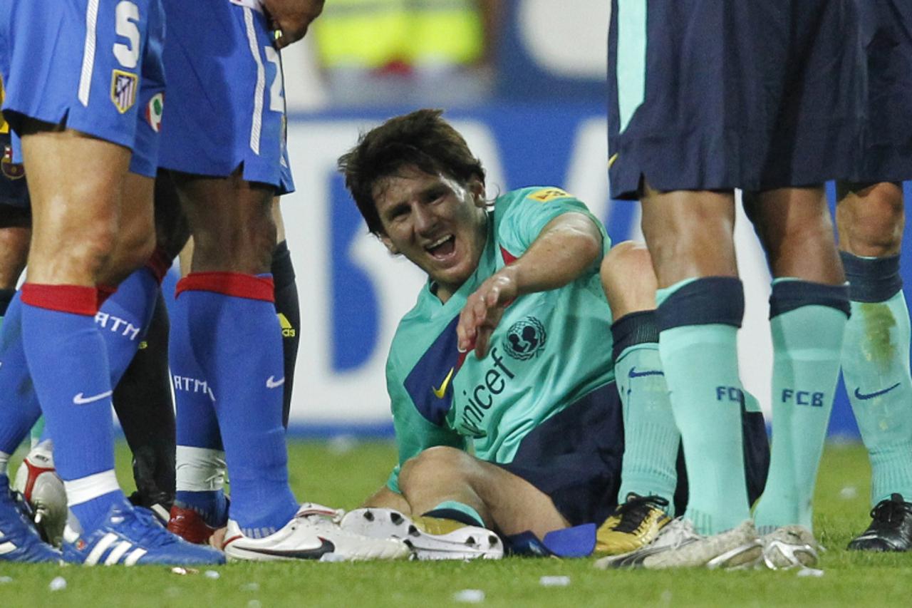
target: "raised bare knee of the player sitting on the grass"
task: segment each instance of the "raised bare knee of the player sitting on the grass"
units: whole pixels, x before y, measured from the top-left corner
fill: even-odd
[[[656,308],[658,282],[652,257],[642,243],[625,241],[613,246],[602,260],[600,274],[614,320]]]

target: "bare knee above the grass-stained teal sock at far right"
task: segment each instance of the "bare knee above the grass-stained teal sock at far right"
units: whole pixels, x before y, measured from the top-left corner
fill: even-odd
[[[841,248],[857,256],[884,257],[902,246],[905,210],[898,184],[849,187],[836,207]]]

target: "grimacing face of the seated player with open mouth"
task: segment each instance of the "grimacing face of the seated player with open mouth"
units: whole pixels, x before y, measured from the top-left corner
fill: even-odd
[[[441,300],[472,276],[487,239],[481,182],[463,186],[406,167],[377,184],[374,202],[385,233],[380,240],[427,272]]]

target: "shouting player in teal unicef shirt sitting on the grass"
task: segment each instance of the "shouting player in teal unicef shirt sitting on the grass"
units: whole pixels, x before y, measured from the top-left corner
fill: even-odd
[[[592,552],[598,525],[602,552],[655,538],[679,434],[646,249],[608,252],[605,228],[559,188],[490,200],[439,110],[387,121],[339,167],[370,232],[428,274],[387,362],[399,465],[343,527],[408,538],[426,559],[498,557],[491,530],[558,555]],[[768,447],[761,414],[745,422],[753,499]]]

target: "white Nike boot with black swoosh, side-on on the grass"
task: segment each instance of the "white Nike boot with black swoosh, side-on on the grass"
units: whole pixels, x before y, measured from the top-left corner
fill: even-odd
[[[362,561],[405,560],[412,555],[401,540],[371,539],[342,529],[344,511],[306,502],[282,529],[254,539],[228,520],[224,551],[230,561]]]

